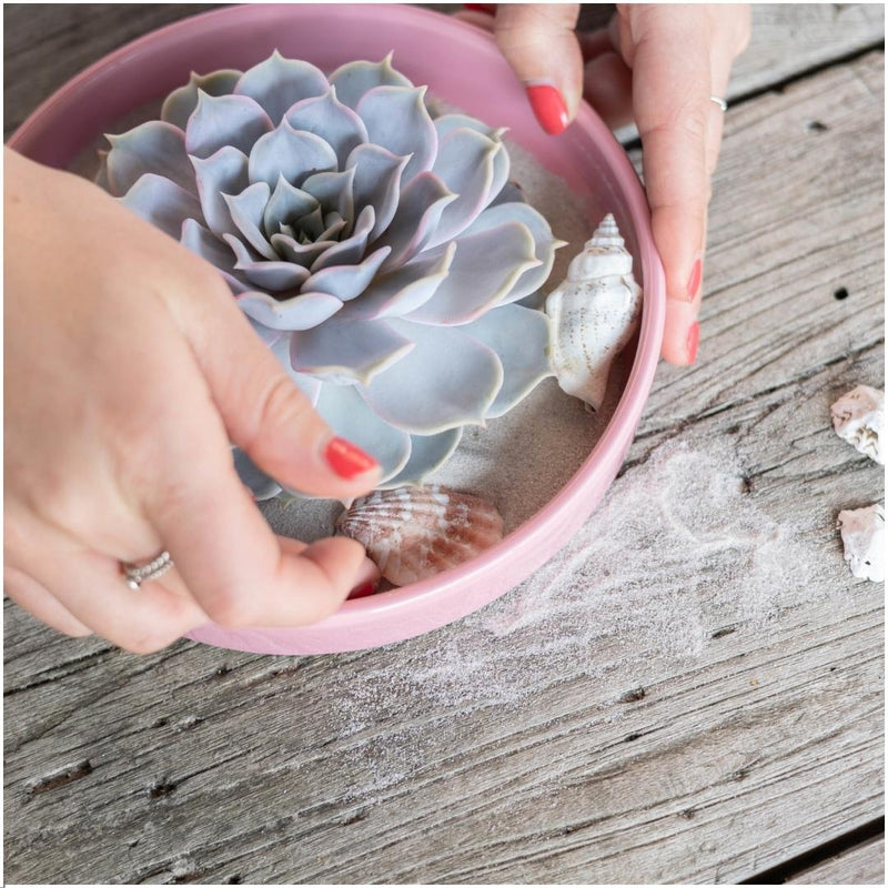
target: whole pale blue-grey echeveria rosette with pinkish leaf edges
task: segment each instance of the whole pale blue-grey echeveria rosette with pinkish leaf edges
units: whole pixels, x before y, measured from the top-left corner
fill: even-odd
[[[109,137],[99,181],[224,275],[244,314],[383,486],[551,375],[545,219],[507,182],[502,130],[432,117],[379,63],[329,78],[278,52],[192,74],[160,120]],[[258,498],[279,485],[235,453]]]

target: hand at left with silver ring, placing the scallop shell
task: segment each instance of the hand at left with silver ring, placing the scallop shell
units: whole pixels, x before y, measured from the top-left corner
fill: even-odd
[[[157,650],[208,619],[291,626],[367,578],[360,544],[276,537],[231,443],[347,498],[333,433],[203,260],[95,185],[6,151],[4,587],[44,623]],[[175,567],[131,591],[121,563]]]

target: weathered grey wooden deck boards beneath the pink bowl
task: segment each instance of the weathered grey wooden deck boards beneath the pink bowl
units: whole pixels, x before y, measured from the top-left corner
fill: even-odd
[[[7,132],[189,11],[4,7]],[[755,18],[698,363],[577,538],[342,656],[137,657],[4,602],[7,881],[884,882],[884,587],[835,532],[884,475],[829,425],[884,384],[884,9]],[[645,568],[593,545],[633,503]]]

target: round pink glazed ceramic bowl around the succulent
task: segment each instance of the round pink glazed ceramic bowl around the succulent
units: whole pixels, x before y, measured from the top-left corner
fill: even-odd
[[[394,50],[397,68],[433,94],[509,135],[567,181],[588,206],[589,231],[602,208],[614,213],[644,285],[642,326],[628,384],[588,458],[531,521],[480,557],[422,583],[346,602],[337,614],[296,629],[223,629],[191,634],[208,644],[268,654],[325,654],[384,645],[443,626],[521,583],[589,516],[632,443],[659,356],[665,316],[663,269],[644,191],[626,154],[584,105],[557,138],[543,133],[524,91],[492,38],[436,12],[383,6],[228,7],[163,28],[93,64],[48,99],[10,145],[65,167],[128,111],[165,95],[189,73],[245,69],[279,49],[333,70]]]

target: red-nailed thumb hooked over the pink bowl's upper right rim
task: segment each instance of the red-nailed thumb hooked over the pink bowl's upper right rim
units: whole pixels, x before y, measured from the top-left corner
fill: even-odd
[[[563,132],[583,98],[583,54],[574,28],[578,3],[500,3],[494,34],[522,81],[539,125]]]

